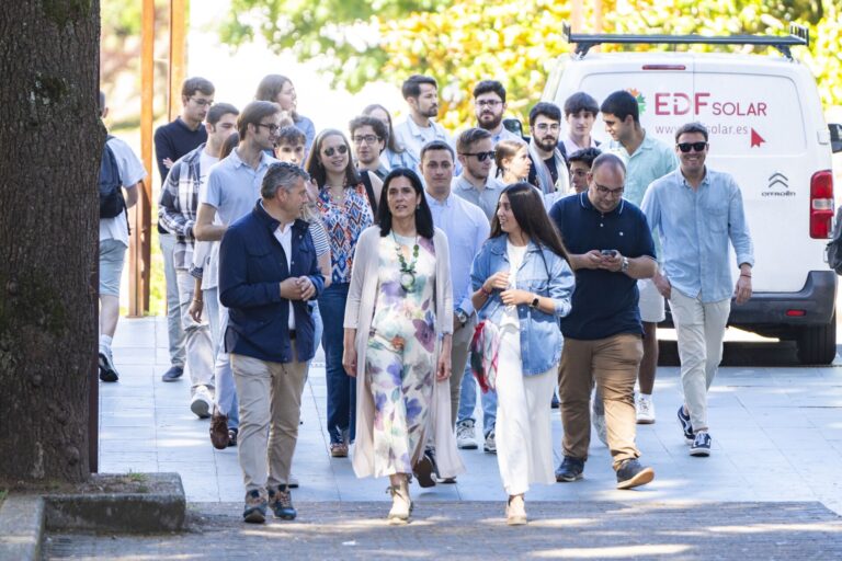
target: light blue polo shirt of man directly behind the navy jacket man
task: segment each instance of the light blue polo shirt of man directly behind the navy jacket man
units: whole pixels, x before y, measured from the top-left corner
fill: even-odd
[[[258,169],[251,168],[237,154],[237,150],[210,168],[207,176],[207,190],[202,193],[201,204],[216,208],[221,222],[230,226],[251,213],[260,198],[260,186],[270,164],[277,162],[265,152],[261,153]]]

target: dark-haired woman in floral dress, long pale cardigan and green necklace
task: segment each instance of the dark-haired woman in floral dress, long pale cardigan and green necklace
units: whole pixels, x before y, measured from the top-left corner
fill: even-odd
[[[389,524],[412,510],[409,474],[431,440],[443,477],[462,471],[450,415],[453,290],[447,238],[433,228],[421,180],[396,168],[378,227],[360,237],[345,309],[342,364],[357,378],[357,477],[389,477]],[[446,410],[446,409],[445,409]],[[432,437],[430,437],[432,433]]]

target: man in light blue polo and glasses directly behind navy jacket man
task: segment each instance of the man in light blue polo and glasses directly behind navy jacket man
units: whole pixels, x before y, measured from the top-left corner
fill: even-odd
[[[251,213],[260,198],[260,186],[266,170],[277,162],[266,154],[273,150],[281,124],[281,106],[268,101],[253,101],[246,105],[237,118],[240,144],[227,158],[210,169],[207,190],[200,196],[196,225],[198,241],[218,241],[228,226]],[[223,276],[219,262],[219,277]],[[221,295],[221,287],[219,289]],[[237,392],[234,387],[230,360],[225,348],[228,309],[219,306],[219,334],[216,365],[214,366],[215,411],[210,420],[210,440],[225,447],[238,436],[239,416]],[[230,430],[230,431],[229,431]]]

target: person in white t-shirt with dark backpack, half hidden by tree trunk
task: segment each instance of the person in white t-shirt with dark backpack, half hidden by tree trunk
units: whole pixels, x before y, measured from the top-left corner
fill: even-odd
[[[100,117],[105,118],[105,94],[100,92]],[[113,218],[100,218],[100,379],[117,381],[120,375],[114,366],[111,342],[120,319],[120,278],[123,275],[126,249],[128,248],[128,218],[126,209],[137,203],[137,186],[146,178],[140,160],[126,142],[109,137],[104,164],[116,162],[120,173],[123,209]],[[112,160],[113,158],[113,160]],[[102,175],[102,173],[101,173]],[[102,180],[102,178],[100,178]],[[101,190],[102,193],[102,190]],[[100,205],[102,211],[102,204]]]

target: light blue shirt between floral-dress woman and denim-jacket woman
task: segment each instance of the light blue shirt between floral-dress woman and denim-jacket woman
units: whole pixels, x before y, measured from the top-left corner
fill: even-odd
[[[453,308],[470,316],[470,264],[488,239],[491,227],[486,214],[476,205],[451,193],[440,203],[429,193],[426,203],[433,214],[433,225],[444,230],[451,248],[451,282],[453,284]]]

